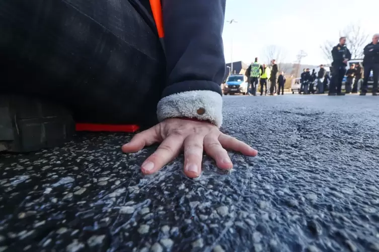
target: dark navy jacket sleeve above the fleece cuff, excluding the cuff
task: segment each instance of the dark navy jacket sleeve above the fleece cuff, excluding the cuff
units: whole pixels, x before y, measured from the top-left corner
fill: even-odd
[[[192,90],[221,95],[225,0],[163,0],[167,87],[163,96]]]

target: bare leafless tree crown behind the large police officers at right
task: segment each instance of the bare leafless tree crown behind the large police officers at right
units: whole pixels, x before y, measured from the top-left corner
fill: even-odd
[[[352,59],[360,59],[363,57],[363,48],[368,43],[369,35],[363,31],[363,29],[356,24],[350,24],[339,32],[340,37],[346,37],[346,46],[351,52]],[[324,54],[324,58],[329,62],[333,61],[332,49],[337,43],[332,41],[325,41],[320,46],[321,51]]]

